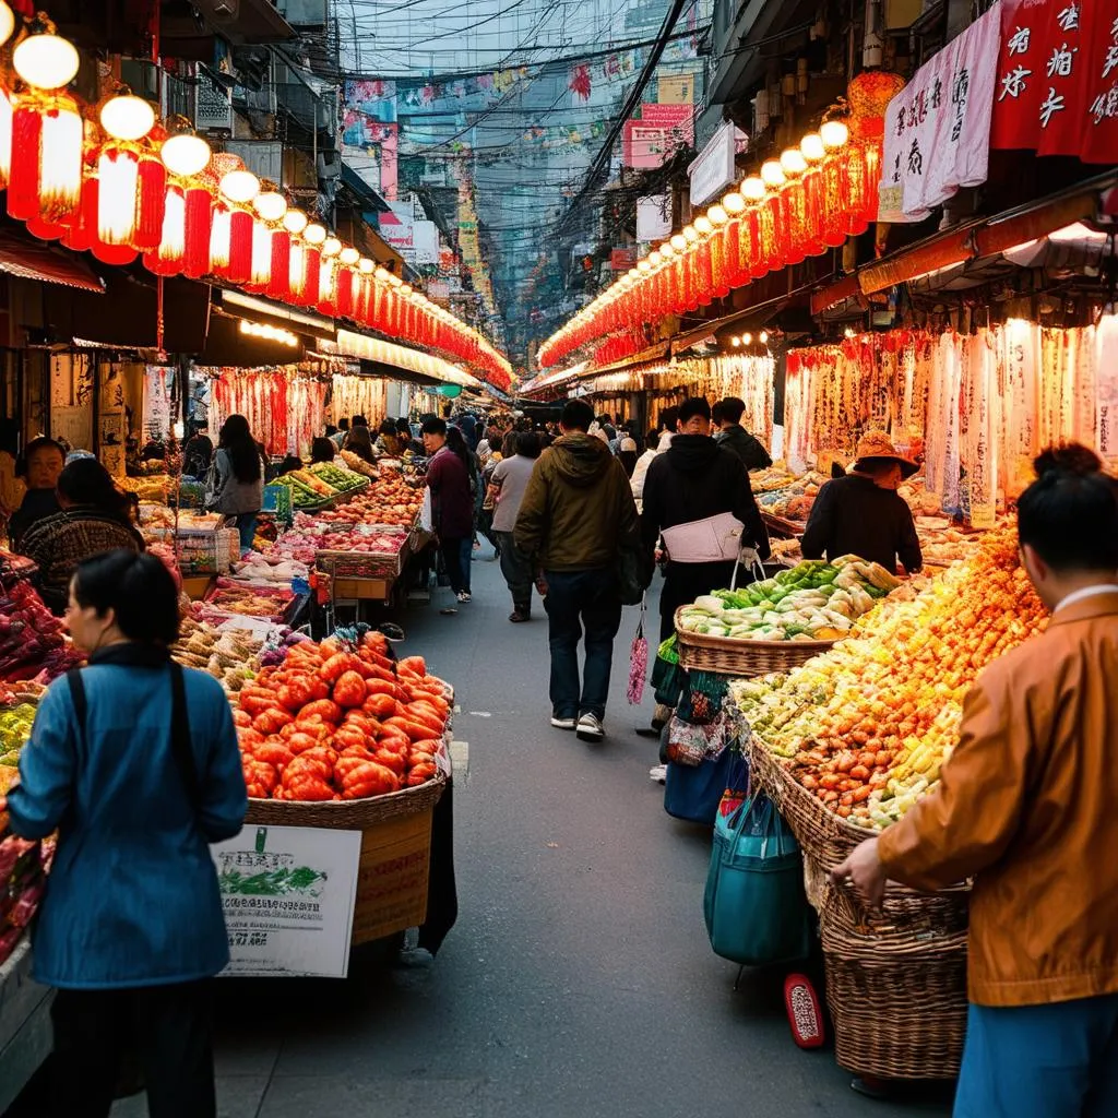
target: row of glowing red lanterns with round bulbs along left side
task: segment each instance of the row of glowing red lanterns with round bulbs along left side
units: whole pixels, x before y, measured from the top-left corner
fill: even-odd
[[[37,69],[20,67],[26,42]],[[214,155],[189,132],[168,135],[151,106],[126,93],[102,104],[100,127],[84,120],[64,89],[77,53],[53,28],[20,39],[15,65],[18,89],[0,79],[0,189],[9,216],[36,236],[106,264],[142,257],[157,275],[214,277],[313,307],[439,350],[508,387],[509,362],[477,331],[260,189],[236,157]]]

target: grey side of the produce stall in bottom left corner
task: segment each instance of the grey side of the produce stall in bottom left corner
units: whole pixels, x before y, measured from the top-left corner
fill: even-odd
[[[31,977],[31,939],[23,936],[0,966],[0,1112],[50,1052],[54,991]]]

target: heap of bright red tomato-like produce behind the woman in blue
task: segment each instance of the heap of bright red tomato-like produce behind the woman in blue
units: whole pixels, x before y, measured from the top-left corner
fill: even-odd
[[[421,656],[394,663],[388,653],[379,633],[304,642],[241,689],[234,721],[249,796],[363,799],[435,776],[446,684]]]

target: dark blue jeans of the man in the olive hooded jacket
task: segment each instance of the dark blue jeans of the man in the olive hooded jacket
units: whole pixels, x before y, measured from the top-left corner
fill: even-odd
[[[606,713],[614,637],[622,624],[617,578],[607,567],[549,570],[548,641],[551,645],[551,713],[556,718]],[[586,664],[578,682],[578,642],[586,627]]]

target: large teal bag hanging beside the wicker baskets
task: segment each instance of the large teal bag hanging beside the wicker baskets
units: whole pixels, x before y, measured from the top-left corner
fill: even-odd
[[[799,845],[767,796],[716,816],[703,916],[714,954],[735,963],[787,963],[811,951]]]

